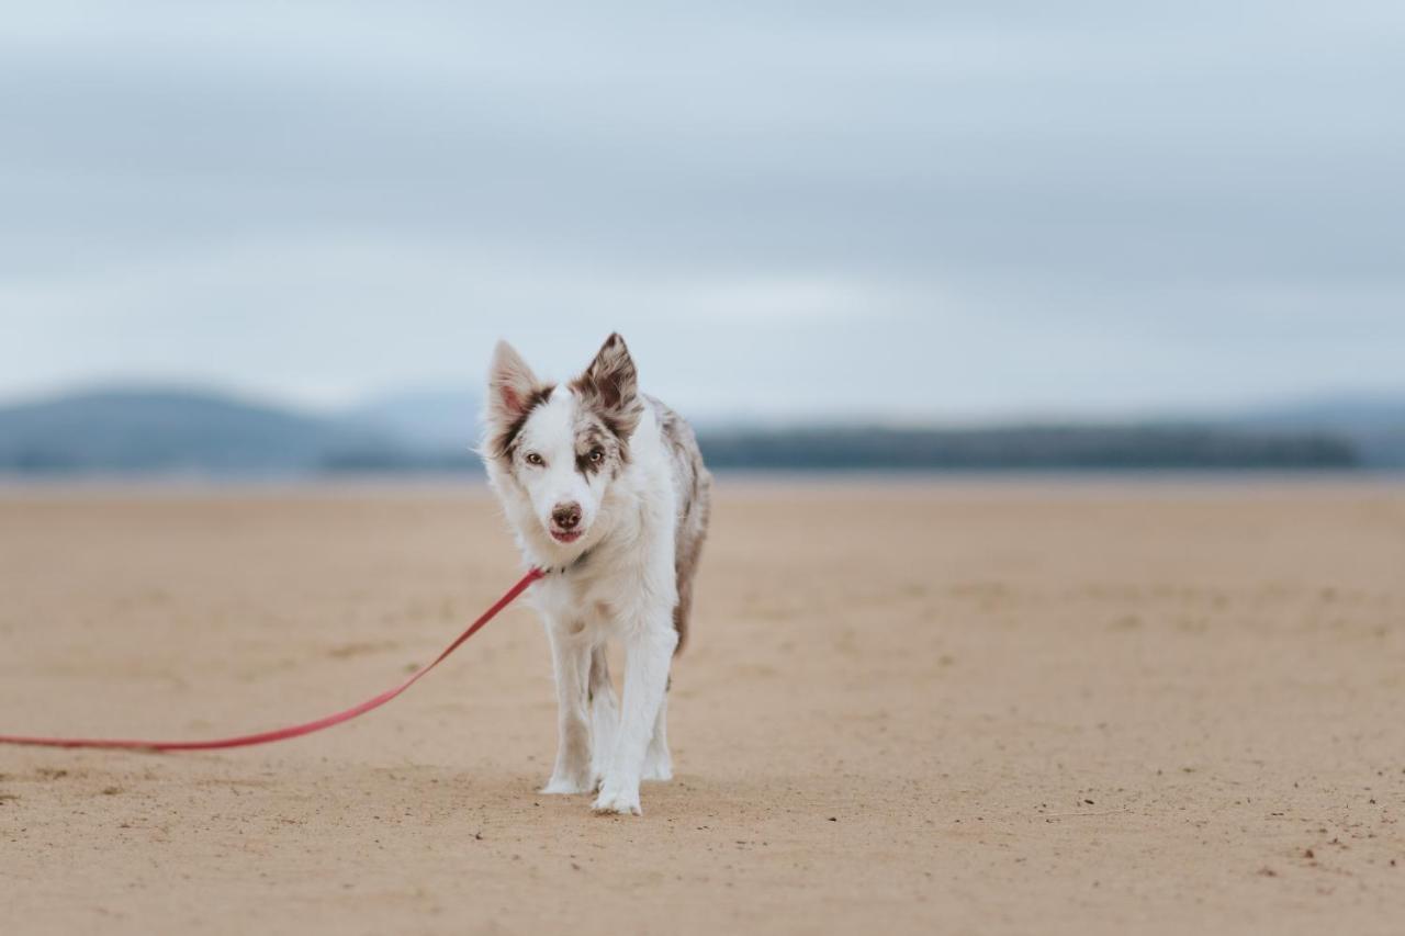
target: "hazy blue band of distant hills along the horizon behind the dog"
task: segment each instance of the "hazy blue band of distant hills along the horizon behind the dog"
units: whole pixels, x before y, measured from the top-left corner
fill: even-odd
[[[1349,408],[1215,423],[989,429],[711,429],[700,441],[718,469],[1405,467],[1405,420],[1395,412]],[[461,392],[386,396],[329,416],[198,389],[94,389],[0,406],[0,474],[476,472],[469,448],[476,413],[478,399]]]

